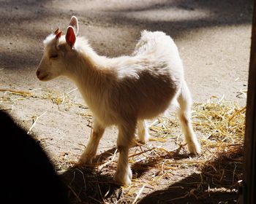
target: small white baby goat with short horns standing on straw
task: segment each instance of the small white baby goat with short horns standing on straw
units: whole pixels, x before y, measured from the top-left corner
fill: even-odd
[[[66,36],[58,29],[45,39],[37,77],[42,81],[60,75],[72,79],[94,115],[93,133],[79,164],[92,162],[105,127],[116,125],[120,155],[114,179],[119,184],[130,184],[128,149],[136,127],[140,141],[145,143],[149,134],[144,119],[157,117],[177,101],[189,152],[200,153],[190,120],[191,96],[178,49],[170,36],[143,31],[131,56],[106,58],[97,55],[77,34],[78,20],[73,16]]]

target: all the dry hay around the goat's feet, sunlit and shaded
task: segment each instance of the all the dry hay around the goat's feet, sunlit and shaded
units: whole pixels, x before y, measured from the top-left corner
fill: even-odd
[[[0,95],[2,109],[10,110],[18,100],[32,97],[51,100],[66,111],[77,106],[78,114],[91,120],[86,106],[70,98],[69,93],[0,92],[4,93]],[[196,157],[186,153],[175,115],[159,117],[151,125],[151,141],[147,145],[137,142],[130,151],[133,178],[129,187],[119,187],[112,181],[118,160],[116,149],[98,155],[99,165],[92,167],[74,168],[75,162],[65,157],[56,159],[55,164],[70,189],[72,203],[187,203],[186,199],[233,203],[242,178],[245,112],[245,107],[233,101],[195,103],[192,121],[202,145],[202,154]],[[178,147],[167,149],[166,141],[174,141]]]

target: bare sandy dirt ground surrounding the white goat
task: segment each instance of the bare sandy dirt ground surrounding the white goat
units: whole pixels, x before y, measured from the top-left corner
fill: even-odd
[[[72,15],[80,21],[80,35],[109,57],[129,55],[144,29],[165,31],[178,46],[193,101],[215,98],[246,104],[251,1],[0,0],[0,97],[8,99],[0,106],[26,130],[31,128],[59,173],[83,152],[91,114],[72,82],[39,82],[35,71],[42,40],[56,28],[65,31]],[[21,91],[22,97],[4,90]],[[115,127],[108,128],[99,154],[115,148],[116,135]],[[170,140],[165,146],[173,149],[176,144]],[[165,192],[161,187],[159,191]]]

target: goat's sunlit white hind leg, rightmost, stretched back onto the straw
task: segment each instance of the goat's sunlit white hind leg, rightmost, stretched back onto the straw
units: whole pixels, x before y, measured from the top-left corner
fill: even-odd
[[[183,82],[181,93],[178,95],[177,99],[180,106],[178,109],[178,118],[181,121],[181,129],[187,141],[189,152],[192,154],[200,154],[200,144],[197,141],[197,136],[194,133],[190,119],[192,98],[186,82]]]

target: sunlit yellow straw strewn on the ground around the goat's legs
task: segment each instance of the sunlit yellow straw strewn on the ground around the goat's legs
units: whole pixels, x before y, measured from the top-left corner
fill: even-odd
[[[0,90],[4,93],[0,95],[1,109],[12,109],[13,106],[19,106],[19,100],[28,100],[29,103],[29,98],[36,98],[47,100],[60,109],[64,108],[65,111],[75,107],[78,110],[76,114],[85,117],[91,124],[91,111],[70,95],[75,90],[62,94],[46,91],[37,95],[29,91]],[[241,95],[245,93],[241,90]],[[137,143],[137,146],[129,150],[129,163],[133,172],[132,184],[129,187],[116,187],[115,182],[111,180],[118,162],[116,150],[110,160],[103,161],[98,168],[94,168],[96,173],[93,175],[88,176],[82,169],[80,173],[83,175],[83,181],[80,181],[80,189],[69,184],[71,194],[79,202],[85,201],[83,199],[86,197],[91,203],[138,203],[142,198],[142,192],[143,195],[151,193],[161,189],[161,185],[170,187],[179,178],[186,178],[189,173],[200,173],[201,170],[203,173],[199,174],[197,181],[189,184],[194,185],[190,189],[181,184],[178,187],[170,187],[170,189],[184,190],[184,193],[167,201],[175,203],[187,197],[200,200],[203,195],[211,196],[216,191],[236,190],[242,179],[243,160],[238,152],[244,144],[246,107],[239,106],[236,101],[225,101],[224,98],[225,95],[222,95],[222,98],[212,97],[207,103],[194,103],[192,107],[192,125],[202,146],[202,154],[196,157],[188,154],[176,114],[171,114],[170,117],[158,117],[151,122],[151,138],[148,143],[145,145]],[[34,120],[28,133],[37,127],[38,119],[44,114]],[[176,144],[176,147],[171,149],[168,144]],[[54,143],[50,145],[53,146]],[[230,162],[219,162],[214,165],[214,162],[221,161],[222,157]],[[64,161],[58,160],[58,157],[54,158],[55,164],[59,168],[65,168],[64,170],[74,164],[68,157]],[[230,173],[229,180],[225,176],[227,172]],[[222,187],[204,189],[206,183],[209,186],[222,184]]]

